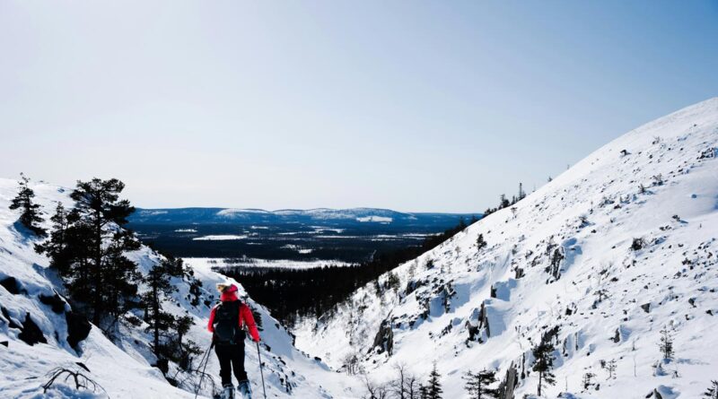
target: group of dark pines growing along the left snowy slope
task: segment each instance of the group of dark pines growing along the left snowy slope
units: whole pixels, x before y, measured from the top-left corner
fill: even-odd
[[[171,360],[188,368],[200,352],[196,343],[185,339],[194,321],[192,317],[172,315],[164,303],[176,291],[171,280],[177,278],[189,282],[196,306],[201,283],[180,259],[164,256],[143,275],[136,262],[127,257],[141,244],[125,228],[135,208],[120,199],[124,183],[115,178],[78,181],[70,194],[73,206],[66,209],[57,203],[49,219],[52,226],[46,230],[30,179],[21,176],[10,209],[20,210],[18,222],[40,240],[35,251],[48,256],[49,266],[62,279],[74,310],[92,320],[110,339],[119,337],[119,323],[145,325],[146,333],[152,336],[157,366],[166,373]],[[140,291],[140,286],[146,290]]]

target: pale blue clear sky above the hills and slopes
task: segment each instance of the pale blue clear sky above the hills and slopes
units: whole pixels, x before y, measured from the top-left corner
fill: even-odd
[[[0,0],[0,176],[477,212],[718,95],[718,1]]]

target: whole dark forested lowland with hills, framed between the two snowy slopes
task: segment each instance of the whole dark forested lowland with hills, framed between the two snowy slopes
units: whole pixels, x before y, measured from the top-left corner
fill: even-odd
[[[129,227],[166,255],[190,264],[208,262],[241,282],[253,299],[293,327],[305,317],[320,317],[357,288],[440,245],[480,216],[200,208],[139,210]]]

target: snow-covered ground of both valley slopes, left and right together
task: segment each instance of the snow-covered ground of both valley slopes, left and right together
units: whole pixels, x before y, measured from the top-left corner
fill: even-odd
[[[67,188],[32,188],[46,210],[72,206]],[[171,386],[152,366],[144,325],[122,326],[114,342],[92,326],[68,342],[66,291],[8,209],[16,189],[0,179],[0,397],[106,396],[67,381],[43,393],[58,367],[88,370],[113,398],[193,397],[190,383]],[[161,260],[148,247],[129,256],[142,273]],[[188,339],[206,349],[224,277],[210,262],[188,263],[201,299],[192,305],[178,278],[165,306],[193,318]],[[366,397],[365,381],[390,383],[398,365],[425,381],[434,363],[446,398],[468,397],[462,377],[482,369],[498,371],[503,399],[534,395],[541,342],[556,375],[541,397],[700,397],[718,379],[718,98],[622,135],[293,334],[248,302],[261,318],[267,397]],[[662,359],[661,330],[672,360]],[[32,332],[46,343],[27,343]],[[245,363],[258,395],[249,341]],[[206,370],[217,375],[214,355]],[[168,376],[182,376],[178,365]]]

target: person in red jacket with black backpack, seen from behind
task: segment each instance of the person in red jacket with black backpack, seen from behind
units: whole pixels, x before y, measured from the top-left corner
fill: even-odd
[[[250,308],[237,298],[237,287],[232,283],[217,284],[221,302],[209,314],[207,330],[212,333],[215,353],[219,360],[219,375],[224,391],[233,393],[232,369],[242,395],[250,392],[247,371],[244,369],[244,327],[250,331],[252,340],[259,342],[259,332]],[[228,395],[227,397],[233,397]]]

